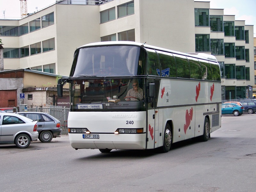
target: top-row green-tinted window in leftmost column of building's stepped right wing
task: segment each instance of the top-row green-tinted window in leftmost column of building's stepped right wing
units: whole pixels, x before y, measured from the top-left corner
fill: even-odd
[[[209,25],[209,9],[195,9],[195,26]]]

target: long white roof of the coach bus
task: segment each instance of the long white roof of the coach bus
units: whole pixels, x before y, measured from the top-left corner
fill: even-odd
[[[206,54],[206,53],[183,53],[183,52],[173,51],[173,50],[164,49],[164,48],[160,48],[160,47],[156,47],[156,46],[152,46],[152,45],[148,45],[148,44],[143,44],[143,43],[138,43],[138,42],[133,42],[133,41],[96,42],[96,43],[85,44],[85,45],[80,46],[78,48],[91,47],[91,46],[101,46],[101,45],[136,45],[136,46],[146,47],[146,48],[150,48],[150,49],[156,49],[156,50],[159,50],[159,51],[166,51],[166,52],[176,53],[176,54],[180,54],[180,55],[195,57],[195,58],[198,58],[198,59],[211,60],[211,61],[218,62],[215,56],[210,55],[210,54]]]

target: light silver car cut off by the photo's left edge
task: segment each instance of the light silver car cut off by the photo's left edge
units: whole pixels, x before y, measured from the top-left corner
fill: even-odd
[[[27,148],[38,138],[37,121],[15,113],[0,113],[0,143]]]

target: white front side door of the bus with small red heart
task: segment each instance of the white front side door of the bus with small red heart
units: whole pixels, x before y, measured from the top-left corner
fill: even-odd
[[[154,83],[154,80],[148,80],[147,84]],[[156,94],[155,94],[156,95]],[[147,149],[153,149],[158,147],[158,113],[155,109],[156,99],[153,102],[148,102],[147,111]]]

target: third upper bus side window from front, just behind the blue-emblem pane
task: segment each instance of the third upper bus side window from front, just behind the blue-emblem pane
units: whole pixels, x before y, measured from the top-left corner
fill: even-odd
[[[176,66],[177,66],[177,77],[190,78],[189,63],[186,56],[173,54]]]

